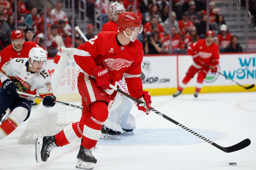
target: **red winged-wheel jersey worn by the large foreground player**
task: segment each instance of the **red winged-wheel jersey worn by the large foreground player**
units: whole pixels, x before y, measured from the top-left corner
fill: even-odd
[[[119,46],[117,34],[117,32],[100,32],[76,49],[74,59],[89,76],[96,66],[107,68],[110,83],[115,86],[124,75],[130,94],[135,96],[142,90],[140,74],[143,46],[138,40]],[[110,88],[106,92],[111,94],[114,90]]]

